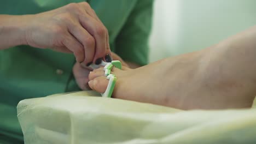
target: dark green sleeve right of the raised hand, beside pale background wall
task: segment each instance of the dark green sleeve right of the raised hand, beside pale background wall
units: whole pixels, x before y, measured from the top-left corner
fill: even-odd
[[[153,0],[139,0],[118,35],[116,53],[127,62],[148,63]]]

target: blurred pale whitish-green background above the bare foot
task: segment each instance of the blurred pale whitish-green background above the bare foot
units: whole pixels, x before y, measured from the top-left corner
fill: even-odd
[[[150,62],[200,50],[256,25],[255,0],[155,0]]]

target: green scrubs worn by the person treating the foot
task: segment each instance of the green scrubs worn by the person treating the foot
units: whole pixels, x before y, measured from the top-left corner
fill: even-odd
[[[0,14],[36,14],[71,2],[82,1],[2,1]],[[93,0],[89,3],[109,31],[112,51],[125,61],[147,64],[153,2]],[[23,141],[16,116],[20,100],[80,90],[72,74],[74,62],[71,54],[30,46],[0,50],[0,143]]]

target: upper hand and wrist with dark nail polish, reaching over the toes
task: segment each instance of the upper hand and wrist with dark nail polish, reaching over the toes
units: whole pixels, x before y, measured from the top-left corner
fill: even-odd
[[[86,2],[27,15],[26,21],[27,45],[72,52],[84,65],[110,53],[107,28]]]

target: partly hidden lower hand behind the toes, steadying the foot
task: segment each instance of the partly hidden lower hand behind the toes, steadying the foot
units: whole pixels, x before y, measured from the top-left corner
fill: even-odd
[[[111,53],[111,56],[113,57],[113,60],[118,60],[122,63],[122,65],[128,69],[128,65],[124,62],[124,60],[122,58],[120,58],[117,54],[115,54],[114,52]],[[107,56],[106,56],[107,57]],[[104,60],[109,59],[109,58],[104,58]],[[90,89],[88,86],[88,75],[90,74],[90,71],[92,71],[92,69],[88,68],[88,67],[83,67],[80,63],[75,63],[74,67],[73,67],[73,74],[75,77],[75,81],[77,81],[78,86],[83,89]]]

